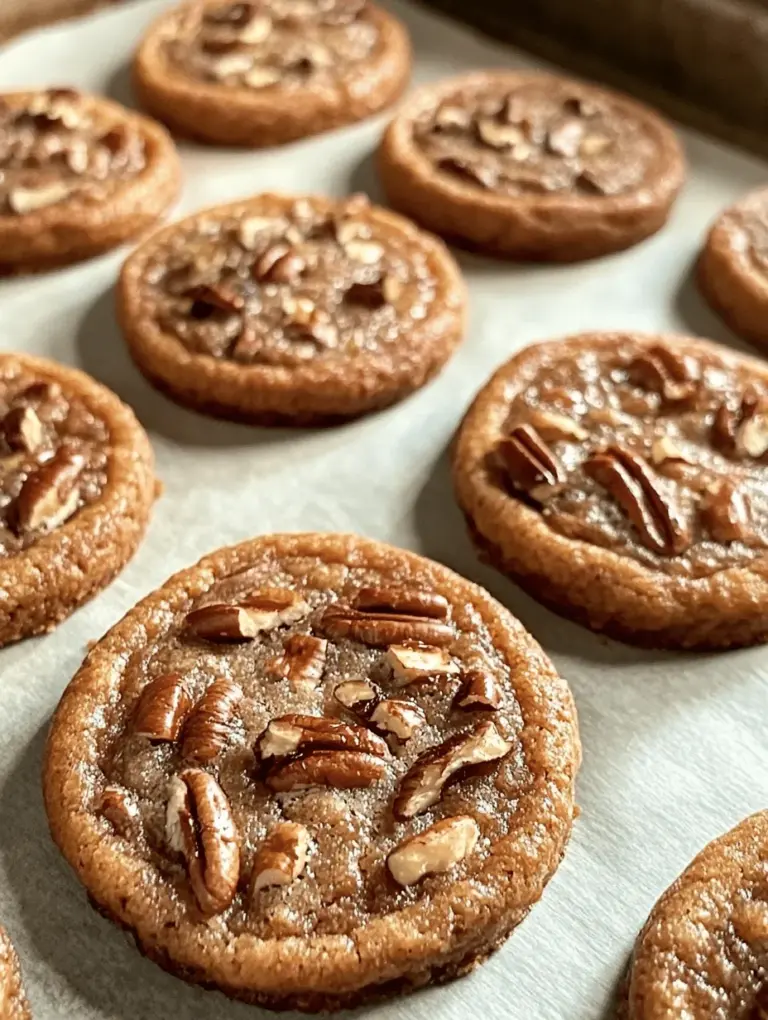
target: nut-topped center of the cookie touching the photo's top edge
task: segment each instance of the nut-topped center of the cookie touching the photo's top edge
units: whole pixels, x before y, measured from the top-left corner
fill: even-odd
[[[186,73],[255,92],[320,88],[360,73],[379,42],[365,0],[214,0],[176,28],[167,53]]]

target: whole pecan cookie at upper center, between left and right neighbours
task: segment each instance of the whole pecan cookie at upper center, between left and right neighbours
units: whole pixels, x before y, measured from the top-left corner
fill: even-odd
[[[329,423],[423,386],[466,304],[444,245],[364,197],[261,195],[154,235],[118,313],[147,378],[224,418]]]

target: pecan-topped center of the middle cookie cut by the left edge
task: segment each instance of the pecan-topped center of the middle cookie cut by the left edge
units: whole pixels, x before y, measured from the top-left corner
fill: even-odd
[[[49,534],[98,499],[108,431],[55,382],[0,368],[0,557]]]

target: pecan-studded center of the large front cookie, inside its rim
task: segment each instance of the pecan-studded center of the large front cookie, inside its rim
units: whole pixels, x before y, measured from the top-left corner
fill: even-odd
[[[94,807],[193,915],[349,932],[508,831],[529,779],[513,684],[482,620],[417,579],[269,557],[133,664]]]

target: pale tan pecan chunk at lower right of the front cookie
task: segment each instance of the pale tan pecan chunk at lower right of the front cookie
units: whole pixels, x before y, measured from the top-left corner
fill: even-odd
[[[387,867],[399,885],[413,885],[424,875],[450,871],[469,857],[479,835],[477,822],[469,815],[444,818],[404,839],[387,858]]]

